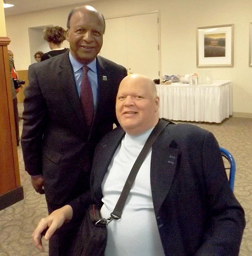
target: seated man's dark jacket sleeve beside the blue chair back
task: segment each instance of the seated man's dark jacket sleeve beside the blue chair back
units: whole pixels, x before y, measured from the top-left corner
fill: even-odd
[[[195,256],[238,256],[245,227],[244,210],[226,182],[219,146],[210,132],[203,142],[202,159],[209,219],[203,244]]]

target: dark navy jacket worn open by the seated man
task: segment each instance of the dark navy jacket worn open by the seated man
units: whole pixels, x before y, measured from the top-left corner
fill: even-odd
[[[102,179],[123,136],[118,127],[96,148],[91,189],[100,206]],[[152,147],[150,179],[166,256],[238,256],[244,211],[229,187],[212,133],[190,124],[169,124]],[[86,199],[71,203],[76,216],[83,214]]]

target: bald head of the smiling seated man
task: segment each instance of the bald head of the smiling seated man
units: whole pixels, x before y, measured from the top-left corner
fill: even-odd
[[[159,97],[152,79],[141,74],[125,77],[116,98],[116,116],[130,135],[155,127],[159,120]]]

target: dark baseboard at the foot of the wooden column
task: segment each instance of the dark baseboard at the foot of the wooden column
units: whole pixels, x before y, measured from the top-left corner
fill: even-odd
[[[17,187],[3,195],[0,195],[0,210],[24,199],[23,187]]]

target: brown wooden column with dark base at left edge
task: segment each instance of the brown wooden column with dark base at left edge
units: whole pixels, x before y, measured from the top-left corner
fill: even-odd
[[[0,37],[0,210],[24,199],[20,184],[8,37]]]

